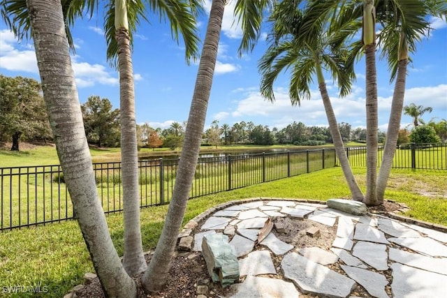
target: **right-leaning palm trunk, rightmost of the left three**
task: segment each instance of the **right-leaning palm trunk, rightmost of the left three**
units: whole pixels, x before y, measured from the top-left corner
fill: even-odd
[[[212,1],[210,19],[208,20],[205,42],[203,43],[202,55],[198,66],[196,87],[194,88],[189,110],[173,198],[169,204],[159,243],[156,246],[147,271],[142,276],[142,287],[146,292],[159,291],[166,283],[166,276],[168,276],[170,262],[173,258],[177,236],[182,225],[205,125],[225,2],[225,0]]]

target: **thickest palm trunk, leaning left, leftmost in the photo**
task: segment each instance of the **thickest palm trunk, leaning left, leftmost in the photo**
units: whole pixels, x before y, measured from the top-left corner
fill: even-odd
[[[121,265],[98,200],[61,1],[27,0],[27,8],[43,97],[75,218],[105,295],[135,297],[135,282]]]

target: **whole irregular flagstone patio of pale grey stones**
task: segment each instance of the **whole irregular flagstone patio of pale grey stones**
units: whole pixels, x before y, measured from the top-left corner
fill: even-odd
[[[242,283],[221,297],[358,297],[359,285],[372,297],[446,297],[446,232],[293,200],[265,198],[216,210],[201,218],[192,250],[201,251],[205,234],[228,234]],[[295,247],[274,232],[255,245],[267,218],[284,217],[336,226],[332,246]]]

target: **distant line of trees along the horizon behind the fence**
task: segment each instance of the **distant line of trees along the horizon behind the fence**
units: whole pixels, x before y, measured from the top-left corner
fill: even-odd
[[[114,109],[108,98],[90,96],[81,105],[85,134],[91,145],[119,147],[119,109]],[[401,129],[397,144],[445,142],[447,120],[427,124],[420,118],[431,107],[404,107],[404,114],[413,117],[413,129]],[[351,124],[338,124],[344,142],[366,142],[365,128],[352,128]],[[168,128],[152,128],[149,124],[137,125],[138,147],[177,149],[182,147],[186,122],[173,122]],[[19,150],[19,142],[52,141],[50,123],[43,102],[41,84],[27,77],[0,75],[0,142],[12,142],[11,150]],[[386,134],[379,132],[379,142],[386,141]],[[270,128],[252,121],[219,124],[214,120],[203,132],[202,144],[218,147],[221,144],[294,144],[318,146],[332,143],[328,127],[306,126],[294,121],[285,128]]]

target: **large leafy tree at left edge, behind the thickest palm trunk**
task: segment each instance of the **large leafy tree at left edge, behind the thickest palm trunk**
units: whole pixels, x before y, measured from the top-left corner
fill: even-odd
[[[42,88],[27,77],[0,75],[0,141],[12,140],[19,151],[20,140],[51,139]]]

